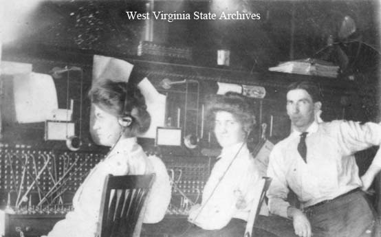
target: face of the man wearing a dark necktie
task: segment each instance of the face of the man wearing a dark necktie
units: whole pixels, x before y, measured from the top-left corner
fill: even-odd
[[[304,132],[314,122],[315,106],[311,95],[304,89],[288,91],[287,115],[296,131]]]

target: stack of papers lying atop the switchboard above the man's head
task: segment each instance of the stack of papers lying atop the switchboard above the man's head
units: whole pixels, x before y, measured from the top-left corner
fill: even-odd
[[[336,78],[338,76],[338,66],[323,60],[306,58],[302,60],[288,61],[280,63],[276,67],[270,67],[269,71],[280,71],[288,74],[303,74],[325,76]]]

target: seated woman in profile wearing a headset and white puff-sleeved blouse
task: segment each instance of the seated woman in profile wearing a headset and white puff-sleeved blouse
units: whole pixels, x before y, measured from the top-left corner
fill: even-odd
[[[94,115],[91,135],[98,144],[112,148],[78,188],[73,199],[74,210],[56,223],[49,237],[95,236],[103,183],[108,174],[155,172],[144,223],[161,221],[171,199],[164,163],[157,157],[146,157],[136,142],[136,136],[147,131],[151,122],[140,90],[131,83],[105,80],[92,87],[89,98]]]

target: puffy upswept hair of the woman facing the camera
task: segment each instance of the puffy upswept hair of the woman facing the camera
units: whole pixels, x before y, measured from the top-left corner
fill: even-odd
[[[243,130],[247,134],[255,125],[252,104],[246,96],[239,93],[229,91],[225,95],[213,95],[206,105],[206,115],[210,123],[215,122],[215,114],[219,111],[231,113],[242,124]]]

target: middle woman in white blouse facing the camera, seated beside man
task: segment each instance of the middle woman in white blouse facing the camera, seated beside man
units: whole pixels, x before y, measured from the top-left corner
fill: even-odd
[[[201,205],[190,210],[190,227],[182,236],[243,236],[255,185],[265,176],[246,144],[255,124],[248,99],[238,93],[215,95],[208,104],[208,121],[213,122],[215,137],[222,147],[204,187]],[[267,207],[261,214],[268,214]]]

